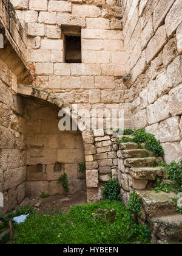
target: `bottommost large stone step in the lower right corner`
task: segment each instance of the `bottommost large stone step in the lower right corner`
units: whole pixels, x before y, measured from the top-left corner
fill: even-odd
[[[182,215],[166,215],[150,219],[155,235],[168,243],[182,242]]]

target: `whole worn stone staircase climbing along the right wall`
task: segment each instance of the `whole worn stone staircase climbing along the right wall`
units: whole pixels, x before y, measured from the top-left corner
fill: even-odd
[[[172,200],[178,198],[177,195],[172,192],[157,194],[152,188],[156,178],[163,179],[165,174],[165,168],[158,166],[163,159],[146,149],[138,149],[136,143],[121,143],[117,155],[123,201],[127,204],[129,193],[135,188],[143,202],[138,221],[152,227],[152,242],[182,242],[182,215],[176,212],[177,205]]]

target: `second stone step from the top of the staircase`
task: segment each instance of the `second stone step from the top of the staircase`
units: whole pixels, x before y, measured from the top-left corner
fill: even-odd
[[[121,158],[140,158],[140,157],[151,157],[150,151],[146,149],[126,149],[121,151]]]

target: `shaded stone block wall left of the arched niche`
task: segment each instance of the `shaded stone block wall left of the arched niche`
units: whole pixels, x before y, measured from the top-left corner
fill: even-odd
[[[0,213],[6,213],[25,197],[25,118],[24,102],[14,91],[16,76],[1,59],[0,66]]]

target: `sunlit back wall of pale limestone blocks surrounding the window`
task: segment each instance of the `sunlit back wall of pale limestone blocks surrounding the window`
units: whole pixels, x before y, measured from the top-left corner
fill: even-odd
[[[12,4],[27,31],[27,62],[36,87],[78,104],[78,111],[129,108],[122,81],[126,52],[120,1],[12,0]],[[65,26],[81,27],[83,63],[64,63]],[[125,127],[130,127],[128,115]]]

